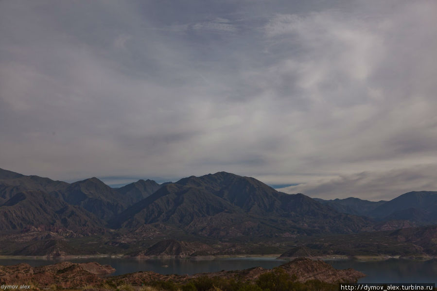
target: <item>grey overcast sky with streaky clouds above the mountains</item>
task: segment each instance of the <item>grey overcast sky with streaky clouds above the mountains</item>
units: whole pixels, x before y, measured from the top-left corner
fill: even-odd
[[[0,1],[0,168],[437,190],[436,15],[435,0]]]

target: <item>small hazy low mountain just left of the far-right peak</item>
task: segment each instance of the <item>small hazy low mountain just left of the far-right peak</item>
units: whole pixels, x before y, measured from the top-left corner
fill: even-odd
[[[321,204],[328,205],[338,212],[348,213],[354,215],[368,215],[371,211],[380,205],[385,204],[384,200],[381,201],[368,201],[359,198],[349,197],[346,199],[334,199],[334,200],[324,200],[320,198],[313,198],[315,201]]]

